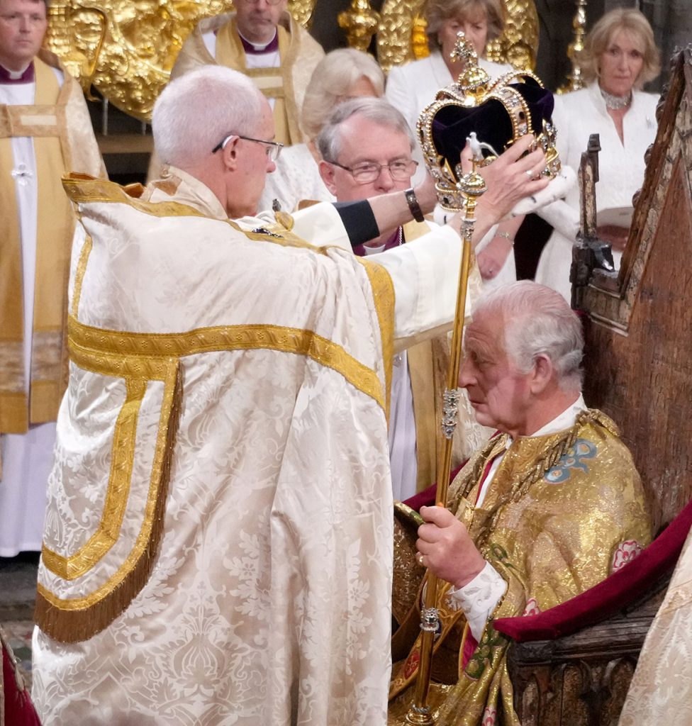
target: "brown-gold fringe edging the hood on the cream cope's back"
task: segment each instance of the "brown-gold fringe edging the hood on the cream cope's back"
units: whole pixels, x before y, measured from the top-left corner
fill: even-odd
[[[54,640],[60,643],[78,643],[97,635],[126,611],[134,597],[149,581],[163,536],[166,499],[171,481],[171,465],[181,408],[182,376],[179,364],[176,364],[173,401],[168,414],[158,492],[154,499],[150,534],[144,549],[121,582],[111,588],[97,603],[86,608],[69,610],[61,608],[51,601],[53,598],[50,593],[39,584],[34,620],[38,627]]]

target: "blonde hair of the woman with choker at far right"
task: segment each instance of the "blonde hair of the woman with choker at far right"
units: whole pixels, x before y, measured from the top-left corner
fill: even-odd
[[[608,49],[615,33],[625,30],[642,44],[643,65],[635,81],[635,88],[653,81],[661,71],[661,54],[656,48],[654,31],[648,20],[638,10],[617,8],[606,12],[589,31],[584,41],[584,50],[579,54],[582,76],[587,83],[593,83],[600,74],[601,56]]]

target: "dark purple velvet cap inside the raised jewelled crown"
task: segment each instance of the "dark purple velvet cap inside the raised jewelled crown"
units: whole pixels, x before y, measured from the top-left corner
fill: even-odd
[[[523,76],[523,83],[508,83],[526,100],[531,114],[530,131],[538,136],[543,131],[543,121],[551,121],[555,99],[548,89],[531,78]],[[476,131],[479,141],[490,144],[501,154],[513,141],[510,115],[497,99],[489,98],[476,107],[464,107],[450,103],[442,107],[433,118],[432,134],[436,150],[444,156],[449,167],[455,169],[461,150],[471,131]],[[484,151],[487,156],[490,154]]]

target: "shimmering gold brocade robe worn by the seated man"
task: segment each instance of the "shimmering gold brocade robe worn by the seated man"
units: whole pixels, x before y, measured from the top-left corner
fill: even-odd
[[[643,489],[630,452],[614,423],[601,412],[582,412],[575,425],[548,436],[513,441],[500,462],[483,507],[474,507],[487,463],[505,447],[492,439],[459,473],[449,508],[468,527],[484,557],[508,583],[493,618],[537,613],[569,600],[605,579],[622,563],[623,552],[651,541]],[[396,579],[396,574],[395,574]],[[439,726],[518,726],[505,664],[508,638],[489,621],[476,651],[462,670],[460,643],[465,619],[441,587],[442,624],[435,643],[433,680],[451,686],[439,702]],[[396,587],[396,584],[395,584]],[[420,658],[417,608],[396,634],[390,724],[402,723]],[[410,635],[415,643],[404,648]],[[405,653],[408,652],[408,655]],[[456,673],[460,673],[457,677]]]

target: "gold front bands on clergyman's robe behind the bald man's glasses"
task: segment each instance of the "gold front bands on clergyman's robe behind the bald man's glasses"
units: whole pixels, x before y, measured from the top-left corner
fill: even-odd
[[[300,144],[303,141],[298,126],[298,107],[293,92],[293,63],[298,56],[299,38],[291,37],[288,30],[279,25],[279,68],[248,68],[245,49],[240,42],[235,17],[219,28],[216,33],[216,61],[227,68],[235,68],[251,78],[266,98],[274,99],[274,126],[276,140],[282,144]]]

